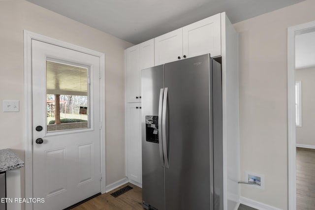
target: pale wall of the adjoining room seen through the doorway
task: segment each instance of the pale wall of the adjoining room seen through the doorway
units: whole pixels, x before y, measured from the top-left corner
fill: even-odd
[[[295,70],[302,81],[302,127],[296,127],[296,144],[315,147],[315,67]]]

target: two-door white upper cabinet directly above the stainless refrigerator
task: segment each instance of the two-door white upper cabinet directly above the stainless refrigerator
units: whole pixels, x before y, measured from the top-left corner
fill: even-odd
[[[155,65],[210,53],[221,56],[221,15],[155,38]]]

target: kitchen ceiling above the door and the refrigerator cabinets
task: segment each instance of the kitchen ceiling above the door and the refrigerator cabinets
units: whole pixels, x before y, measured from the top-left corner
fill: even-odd
[[[237,23],[303,0],[28,0],[133,44],[226,12]]]

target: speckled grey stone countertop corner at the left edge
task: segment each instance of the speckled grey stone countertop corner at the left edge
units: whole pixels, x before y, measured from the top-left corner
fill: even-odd
[[[0,172],[21,167],[24,167],[24,162],[12,150],[0,150]]]

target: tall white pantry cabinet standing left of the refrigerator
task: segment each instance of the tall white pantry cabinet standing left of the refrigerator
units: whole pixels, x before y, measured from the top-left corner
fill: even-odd
[[[141,187],[141,69],[154,66],[154,39],[126,49],[125,60],[126,177]]]

